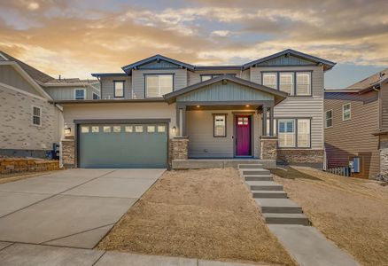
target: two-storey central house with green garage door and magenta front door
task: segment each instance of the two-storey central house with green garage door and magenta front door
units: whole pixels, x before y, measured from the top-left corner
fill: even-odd
[[[156,55],[122,73],[92,74],[101,99],[54,101],[64,108],[64,163],[156,168],[255,158],[322,167],[323,76],[334,65],[286,50],[242,66]]]

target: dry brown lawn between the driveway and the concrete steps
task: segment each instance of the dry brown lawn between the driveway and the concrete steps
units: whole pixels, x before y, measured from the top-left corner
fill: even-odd
[[[166,172],[97,248],[296,265],[234,168]]]

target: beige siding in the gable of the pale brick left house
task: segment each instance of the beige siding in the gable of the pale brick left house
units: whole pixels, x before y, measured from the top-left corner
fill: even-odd
[[[0,66],[0,82],[42,97],[42,95],[36,91],[35,88],[27,82],[15,68],[13,68],[13,66]]]

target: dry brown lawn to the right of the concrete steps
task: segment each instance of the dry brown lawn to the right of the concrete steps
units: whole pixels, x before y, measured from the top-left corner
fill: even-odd
[[[363,265],[388,265],[388,186],[313,168],[277,170],[313,225]]]

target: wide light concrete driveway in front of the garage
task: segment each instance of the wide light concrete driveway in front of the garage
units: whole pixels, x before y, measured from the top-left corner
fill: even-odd
[[[0,184],[0,241],[93,248],[165,169],[71,169]]]

